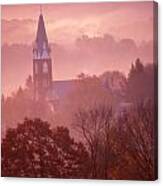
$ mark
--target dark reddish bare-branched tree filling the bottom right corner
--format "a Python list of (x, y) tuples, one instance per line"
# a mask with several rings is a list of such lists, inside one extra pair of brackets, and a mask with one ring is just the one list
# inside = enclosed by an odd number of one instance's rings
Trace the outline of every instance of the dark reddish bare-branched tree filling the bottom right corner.
[(154, 109), (151, 102), (134, 106), (120, 118), (119, 151), (123, 152), (125, 171), (120, 170), (119, 179), (154, 180), (157, 146)]

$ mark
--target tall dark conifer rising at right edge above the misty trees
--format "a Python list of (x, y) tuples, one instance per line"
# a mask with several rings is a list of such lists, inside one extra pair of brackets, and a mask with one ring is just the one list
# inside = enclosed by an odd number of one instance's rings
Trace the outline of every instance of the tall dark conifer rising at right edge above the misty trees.
[(154, 66), (155, 64), (143, 65), (140, 59), (132, 64), (126, 88), (126, 99), (131, 102), (154, 100)]

